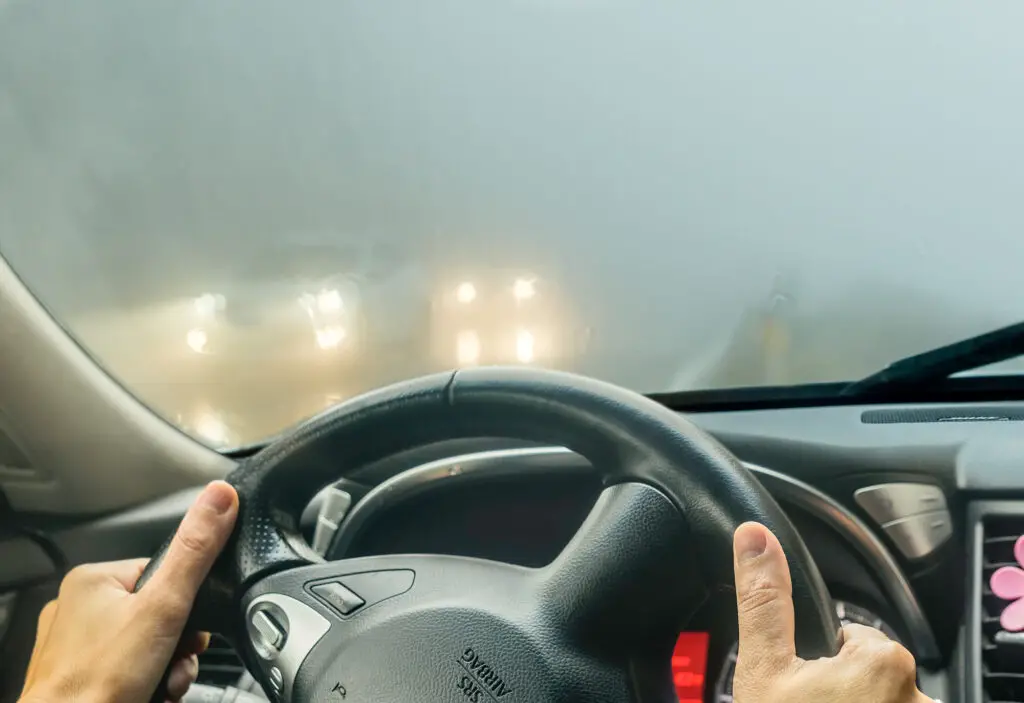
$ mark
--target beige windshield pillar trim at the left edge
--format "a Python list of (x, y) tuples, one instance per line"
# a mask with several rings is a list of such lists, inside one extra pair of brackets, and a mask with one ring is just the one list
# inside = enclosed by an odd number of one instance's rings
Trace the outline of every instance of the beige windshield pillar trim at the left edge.
[(68, 335), (0, 256), (0, 468), (17, 510), (98, 514), (224, 476), (233, 462), (169, 425)]

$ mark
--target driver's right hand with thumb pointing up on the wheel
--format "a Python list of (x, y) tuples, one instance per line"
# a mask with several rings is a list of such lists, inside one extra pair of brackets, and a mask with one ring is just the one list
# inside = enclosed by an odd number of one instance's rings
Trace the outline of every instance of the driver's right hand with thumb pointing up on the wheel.
[(918, 690), (913, 656), (870, 627), (846, 625), (835, 657), (800, 659), (782, 545), (766, 527), (745, 523), (736, 530), (733, 551), (739, 611), (735, 703), (933, 703)]

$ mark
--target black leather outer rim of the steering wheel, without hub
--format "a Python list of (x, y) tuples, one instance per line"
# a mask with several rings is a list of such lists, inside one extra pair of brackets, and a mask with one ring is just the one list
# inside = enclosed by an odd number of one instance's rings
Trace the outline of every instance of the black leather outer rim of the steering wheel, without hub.
[[(838, 650), (839, 622), (792, 523), (721, 445), (671, 410), (609, 384), (554, 371), (479, 368), (425, 377), (356, 398), (305, 423), (229, 477), (241, 510), (236, 533), (203, 599), (217, 608), (272, 571), (316, 560), (299, 531), (314, 493), (394, 453), (467, 437), (566, 446), (605, 484), (660, 490), (689, 523), (700, 566), (732, 583), (732, 533), (742, 522), (779, 538), (793, 574), (798, 653)], [(200, 604), (201, 608), (204, 604)]]

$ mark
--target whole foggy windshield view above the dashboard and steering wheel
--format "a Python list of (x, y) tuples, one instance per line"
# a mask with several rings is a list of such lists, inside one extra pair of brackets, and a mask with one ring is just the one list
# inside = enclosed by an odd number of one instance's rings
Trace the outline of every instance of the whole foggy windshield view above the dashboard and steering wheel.
[(1024, 5), (0, 2), (0, 252), (211, 444), (486, 363), (859, 378), (1024, 317)]

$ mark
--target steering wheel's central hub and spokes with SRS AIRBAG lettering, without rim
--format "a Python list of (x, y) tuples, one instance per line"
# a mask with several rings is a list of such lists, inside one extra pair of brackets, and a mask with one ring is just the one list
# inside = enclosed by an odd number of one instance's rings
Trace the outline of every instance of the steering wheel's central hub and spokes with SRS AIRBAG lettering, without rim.
[[(628, 666), (638, 645), (671, 647), (686, 604), (695, 601), (683, 590), (683, 570), (667, 568), (682, 563), (684, 536), (672, 503), (631, 483), (606, 491), (573, 543), (545, 569), (386, 556), (282, 571), (244, 597), (250, 623), (280, 609), (304, 626), (298, 640), (278, 638), (287, 643), (280, 653), (255, 647), (254, 663), (267, 676), (282, 672), (285, 699), (302, 691), (326, 700), (337, 690), (342, 700), (364, 691), (375, 700), (450, 700), (456, 693), (605, 700), (590, 693), (600, 683), (606, 700), (624, 700), (627, 679), (607, 671)], [(624, 552), (637, 543), (650, 545), (646, 559)], [(629, 566), (616, 574), (609, 559)], [(332, 586), (364, 605), (343, 612), (351, 599), (334, 599)]]

